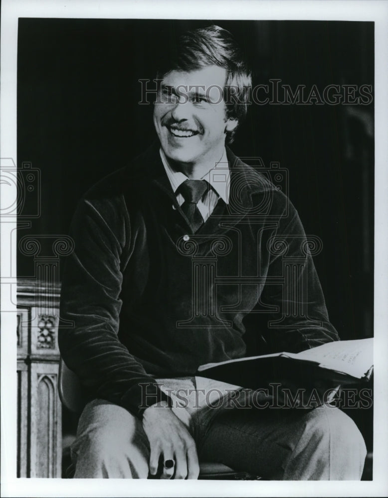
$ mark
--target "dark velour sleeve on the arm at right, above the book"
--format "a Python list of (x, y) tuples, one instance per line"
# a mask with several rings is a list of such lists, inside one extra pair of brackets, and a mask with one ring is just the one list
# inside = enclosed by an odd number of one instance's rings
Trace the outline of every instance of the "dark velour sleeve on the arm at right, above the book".
[(322, 249), (318, 237), (306, 237), (299, 215), (284, 194), (276, 193), (283, 211), (276, 234), (267, 241), (267, 282), (260, 297), (267, 340), (272, 351), (297, 353), (339, 340), (330, 323), (312, 253)]

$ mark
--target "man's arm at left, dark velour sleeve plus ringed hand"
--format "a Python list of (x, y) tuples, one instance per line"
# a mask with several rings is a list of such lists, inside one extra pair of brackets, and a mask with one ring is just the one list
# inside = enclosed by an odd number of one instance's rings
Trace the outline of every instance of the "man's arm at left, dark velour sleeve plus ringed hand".
[[(96, 205), (97, 204), (97, 205)], [(130, 222), (124, 200), (82, 200), (71, 236), (75, 250), (66, 261), (60, 328), (63, 360), (96, 398), (123, 406), (141, 417), (150, 442), (150, 473), (162, 478), (196, 479), (199, 465), (194, 439), (174, 413), (171, 398), (118, 339), (122, 266), (129, 257)]]

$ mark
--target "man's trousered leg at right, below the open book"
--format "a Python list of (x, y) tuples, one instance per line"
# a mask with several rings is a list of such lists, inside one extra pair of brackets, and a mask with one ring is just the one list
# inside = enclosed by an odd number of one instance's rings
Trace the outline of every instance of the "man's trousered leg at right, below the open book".
[(366, 449), (341, 410), (229, 407), (198, 441), (199, 458), (274, 480), (361, 478)]

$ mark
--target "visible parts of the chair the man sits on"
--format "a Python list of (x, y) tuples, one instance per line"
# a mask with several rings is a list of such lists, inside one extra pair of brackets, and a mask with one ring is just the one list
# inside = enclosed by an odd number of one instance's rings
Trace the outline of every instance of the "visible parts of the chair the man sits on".
[[(62, 404), (71, 412), (80, 414), (84, 407), (82, 389), (77, 375), (66, 367), (62, 359), (59, 363), (58, 392)], [(74, 466), (71, 464), (66, 469), (66, 477), (74, 476)], [(237, 472), (224, 464), (217, 462), (200, 462), (198, 479), (212, 480), (259, 480), (247, 472)]]

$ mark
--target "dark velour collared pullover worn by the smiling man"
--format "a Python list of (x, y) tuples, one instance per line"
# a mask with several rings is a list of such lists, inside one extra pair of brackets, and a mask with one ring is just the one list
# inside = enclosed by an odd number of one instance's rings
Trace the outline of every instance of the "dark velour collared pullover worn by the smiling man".
[(246, 351), (246, 320), (272, 351), (338, 340), (295, 208), (229, 149), (227, 157), (229, 204), (220, 199), (194, 235), (159, 145), (81, 199), (60, 302), (74, 326), (60, 329), (59, 347), (89, 396), (141, 416), (169, 400), (155, 377), (260, 354)]

